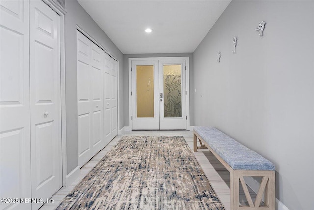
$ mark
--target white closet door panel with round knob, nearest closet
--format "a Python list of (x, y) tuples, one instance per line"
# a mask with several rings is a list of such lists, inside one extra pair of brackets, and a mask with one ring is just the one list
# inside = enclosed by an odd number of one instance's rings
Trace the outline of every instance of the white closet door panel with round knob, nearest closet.
[(32, 198), (46, 199), (62, 187), (60, 16), (41, 0), (29, 11)]

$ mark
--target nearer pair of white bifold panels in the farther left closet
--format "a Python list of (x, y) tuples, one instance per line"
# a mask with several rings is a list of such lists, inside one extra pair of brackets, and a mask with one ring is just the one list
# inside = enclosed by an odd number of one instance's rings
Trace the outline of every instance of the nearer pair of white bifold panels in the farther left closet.
[(78, 165), (104, 148), (103, 51), (77, 30)]

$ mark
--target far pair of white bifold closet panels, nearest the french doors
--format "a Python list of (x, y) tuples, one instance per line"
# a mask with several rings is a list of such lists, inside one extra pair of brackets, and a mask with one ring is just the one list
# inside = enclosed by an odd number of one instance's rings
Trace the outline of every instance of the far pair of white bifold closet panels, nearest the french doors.
[(104, 132), (105, 145), (118, 135), (117, 61), (104, 54)]

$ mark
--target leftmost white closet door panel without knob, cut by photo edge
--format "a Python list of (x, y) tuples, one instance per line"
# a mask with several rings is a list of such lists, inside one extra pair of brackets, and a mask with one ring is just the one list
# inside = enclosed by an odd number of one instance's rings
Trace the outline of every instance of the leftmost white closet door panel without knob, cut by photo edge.
[[(30, 198), (28, 1), (0, 1), (0, 195)], [(0, 209), (31, 204), (0, 203)]]

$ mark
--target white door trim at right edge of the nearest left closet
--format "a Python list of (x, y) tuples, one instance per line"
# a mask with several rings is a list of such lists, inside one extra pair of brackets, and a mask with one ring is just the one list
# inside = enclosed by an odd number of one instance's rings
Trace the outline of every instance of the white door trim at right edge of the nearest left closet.
[(52, 0), (43, 0), (60, 15), (60, 73), (61, 73), (61, 144), (62, 144), (62, 186), (66, 186), (67, 177), (67, 132), (65, 100), (65, 11)]

